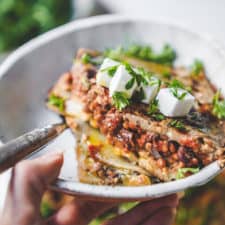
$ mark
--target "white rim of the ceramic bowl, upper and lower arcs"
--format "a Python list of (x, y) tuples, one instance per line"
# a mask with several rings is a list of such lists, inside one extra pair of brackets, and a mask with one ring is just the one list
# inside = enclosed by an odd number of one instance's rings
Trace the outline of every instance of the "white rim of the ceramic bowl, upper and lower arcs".
[[(179, 24), (166, 23), (164, 21), (155, 21), (143, 17), (131, 17), (123, 15), (102, 15), (94, 16), (90, 18), (80, 19), (68, 24), (62, 25), (55, 28), (45, 34), (42, 34), (29, 42), (25, 43), (13, 53), (11, 53), (0, 65), (0, 79), (7, 73), (7, 71), (26, 54), (32, 52), (36, 48), (56, 39), (64, 36), (70, 32), (75, 32), (81, 29), (87, 29), (96, 25), (104, 25), (110, 23), (123, 23), (123, 22), (149, 22), (159, 25), (169, 26), (174, 29), (178, 29), (183, 32), (195, 35), (200, 39), (205, 40), (210, 46), (214, 47), (215, 50), (222, 55), (225, 59), (225, 49), (222, 45), (215, 41), (210, 35), (200, 34), (197, 32), (190, 31)], [(159, 183), (149, 186), (140, 187), (122, 187), (122, 186), (104, 186), (104, 185), (90, 185), (80, 182), (73, 182), (64, 179), (58, 179), (55, 184), (51, 185), (51, 188), (57, 191), (65, 192), (68, 194), (79, 195), (79, 196), (92, 196), (100, 198), (111, 198), (111, 199), (129, 199), (129, 200), (140, 200), (154, 197), (160, 197), (182, 191), (186, 188), (199, 186), (207, 183), (210, 179), (221, 172), (218, 162), (213, 162), (210, 165), (203, 168), (197, 174), (189, 176), (187, 178)], [(162, 189), (164, 191), (162, 191)]]

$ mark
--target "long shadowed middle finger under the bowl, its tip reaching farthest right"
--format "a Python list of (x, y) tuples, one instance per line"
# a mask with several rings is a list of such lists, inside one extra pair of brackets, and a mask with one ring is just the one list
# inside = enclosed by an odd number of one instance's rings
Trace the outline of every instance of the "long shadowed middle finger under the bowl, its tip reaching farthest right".
[(126, 225), (127, 221), (129, 221), (129, 225), (140, 224), (145, 218), (151, 216), (158, 209), (165, 207), (174, 208), (177, 205), (178, 198), (176, 194), (169, 195), (163, 198), (153, 199), (147, 202), (143, 202), (127, 213), (105, 222), (104, 225)]

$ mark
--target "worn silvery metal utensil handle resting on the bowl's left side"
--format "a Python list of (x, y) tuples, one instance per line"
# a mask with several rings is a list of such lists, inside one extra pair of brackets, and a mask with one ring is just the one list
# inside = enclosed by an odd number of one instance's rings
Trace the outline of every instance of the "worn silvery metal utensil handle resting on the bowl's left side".
[(0, 173), (40, 149), (66, 129), (64, 123), (32, 130), (0, 147)]

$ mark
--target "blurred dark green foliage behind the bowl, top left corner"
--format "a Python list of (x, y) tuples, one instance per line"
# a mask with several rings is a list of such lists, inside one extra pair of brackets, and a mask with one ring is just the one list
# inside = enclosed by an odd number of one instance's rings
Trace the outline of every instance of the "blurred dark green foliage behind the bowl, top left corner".
[(0, 0), (0, 52), (69, 21), (71, 0)]

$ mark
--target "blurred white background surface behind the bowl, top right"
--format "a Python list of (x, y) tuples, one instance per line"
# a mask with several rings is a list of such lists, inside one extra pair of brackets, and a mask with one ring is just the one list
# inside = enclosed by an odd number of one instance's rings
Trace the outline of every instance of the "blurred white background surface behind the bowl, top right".
[(112, 13), (181, 24), (225, 44), (224, 0), (96, 0)]

